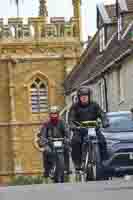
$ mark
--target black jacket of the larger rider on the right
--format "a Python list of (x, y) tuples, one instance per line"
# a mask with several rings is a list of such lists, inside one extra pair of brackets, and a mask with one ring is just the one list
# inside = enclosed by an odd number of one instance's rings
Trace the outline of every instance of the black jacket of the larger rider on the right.
[(73, 126), (73, 121), (95, 121), (98, 118), (101, 119), (103, 126), (108, 124), (108, 120), (105, 112), (95, 102), (90, 102), (86, 106), (82, 106), (80, 103), (75, 103), (71, 106), (69, 112), (69, 124)]

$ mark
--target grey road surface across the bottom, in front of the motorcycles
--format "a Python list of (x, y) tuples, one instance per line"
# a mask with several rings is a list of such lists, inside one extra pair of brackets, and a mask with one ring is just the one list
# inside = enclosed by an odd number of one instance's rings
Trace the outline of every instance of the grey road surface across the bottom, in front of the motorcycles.
[(0, 188), (0, 200), (132, 200), (133, 181), (42, 184)]

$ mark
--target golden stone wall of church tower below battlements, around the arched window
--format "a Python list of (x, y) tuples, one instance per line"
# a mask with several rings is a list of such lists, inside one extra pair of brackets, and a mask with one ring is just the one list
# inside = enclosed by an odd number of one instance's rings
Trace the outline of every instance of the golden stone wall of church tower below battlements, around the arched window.
[(32, 112), (30, 86), (35, 78), (46, 81), (48, 106), (63, 108), (63, 82), (80, 57), (81, 44), (74, 37), (1, 41), (0, 181), (6, 182), (17, 173), (42, 173), (42, 157), (33, 141), (48, 111)]

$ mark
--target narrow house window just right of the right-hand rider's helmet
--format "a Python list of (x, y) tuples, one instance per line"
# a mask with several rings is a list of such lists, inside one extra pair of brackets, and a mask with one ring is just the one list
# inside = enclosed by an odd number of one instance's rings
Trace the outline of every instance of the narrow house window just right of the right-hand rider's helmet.
[(106, 111), (106, 95), (105, 95), (105, 85), (104, 81), (100, 81), (98, 83), (98, 91), (99, 91), (99, 104), (101, 108)]

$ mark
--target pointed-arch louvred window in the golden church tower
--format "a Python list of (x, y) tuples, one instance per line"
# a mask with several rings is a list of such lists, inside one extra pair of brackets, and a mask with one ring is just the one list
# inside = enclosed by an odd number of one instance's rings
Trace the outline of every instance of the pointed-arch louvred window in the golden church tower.
[(36, 78), (30, 86), (32, 113), (48, 111), (48, 85)]

